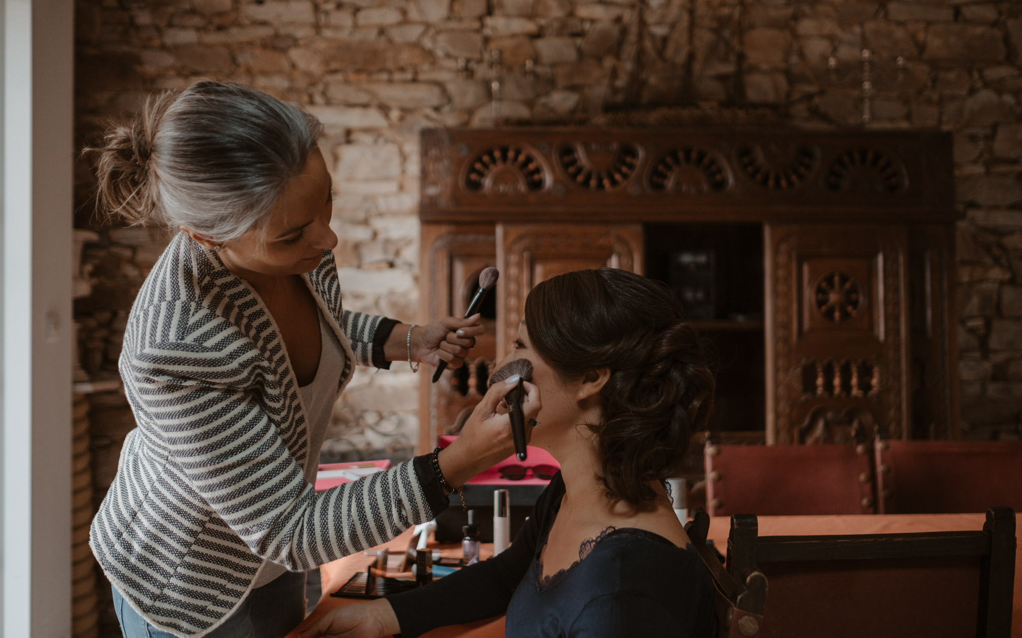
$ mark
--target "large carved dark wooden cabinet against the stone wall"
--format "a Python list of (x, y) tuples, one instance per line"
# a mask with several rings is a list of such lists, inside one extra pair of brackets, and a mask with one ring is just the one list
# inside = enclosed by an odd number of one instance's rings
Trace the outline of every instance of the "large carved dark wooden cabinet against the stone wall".
[(771, 443), (958, 434), (949, 136), (782, 130), (427, 130), (420, 321), (501, 271), (486, 337), (423, 377), (420, 448), (478, 402), (524, 300), (609, 265), (672, 281), (711, 251), (713, 428)]

